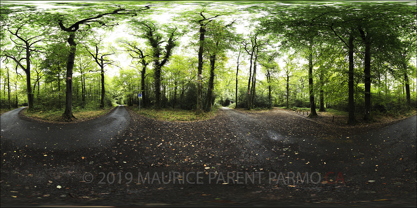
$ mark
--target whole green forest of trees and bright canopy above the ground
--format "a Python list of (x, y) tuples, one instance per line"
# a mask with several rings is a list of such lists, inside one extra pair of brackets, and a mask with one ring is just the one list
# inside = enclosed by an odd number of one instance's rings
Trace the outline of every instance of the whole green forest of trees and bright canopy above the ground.
[(415, 1), (1, 2), (1, 109), (416, 109)]

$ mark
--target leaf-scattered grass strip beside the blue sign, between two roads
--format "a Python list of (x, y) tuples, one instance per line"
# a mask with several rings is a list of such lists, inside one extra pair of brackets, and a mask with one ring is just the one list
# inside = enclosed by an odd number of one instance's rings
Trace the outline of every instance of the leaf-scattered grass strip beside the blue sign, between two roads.
[(129, 106), (129, 109), (136, 113), (146, 116), (148, 118), (162, 120), (162, 121), (201, 121), (210, 119), (215, 116), (214, 111), (202, 113), (196, 115), (195, 111), (186, 111), (181, 109), (161, 109), (159, 111), (151, 108), (141, 108), (139, 111), (138, 106)]

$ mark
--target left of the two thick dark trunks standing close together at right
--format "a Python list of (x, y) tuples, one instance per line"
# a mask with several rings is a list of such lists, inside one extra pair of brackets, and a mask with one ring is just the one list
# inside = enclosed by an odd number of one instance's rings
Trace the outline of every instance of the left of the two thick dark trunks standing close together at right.
[(354, 65), (353, 65), (353, 40), (354, 37), (352, 34), (349, 36), (349, 98), (348, 98), (348, 109), (349, 109), (349, 118), (347, 120), (348, 124), (355, 124), (357, 122), (355, 117), (355, 103), (354, 103)]

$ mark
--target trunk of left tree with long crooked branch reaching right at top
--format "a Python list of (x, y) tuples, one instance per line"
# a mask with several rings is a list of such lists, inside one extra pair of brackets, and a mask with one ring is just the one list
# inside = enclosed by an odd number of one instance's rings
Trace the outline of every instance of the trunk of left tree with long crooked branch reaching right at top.
[(77, 44), (74, 41), (75, 33), (71, 33), (68, 38), (68, 43), (70, 44), (70, 52), (68, 54), (68, 61), (67, 61), (67, 76), (66, 76), (66, 94), (65, 94), (65, 111), (63, 113), (63, 117), (67, 120), (76, 119), (73, 115), (73, 68), (74, 68), (74, 59), (75, 59), (75, 51)]

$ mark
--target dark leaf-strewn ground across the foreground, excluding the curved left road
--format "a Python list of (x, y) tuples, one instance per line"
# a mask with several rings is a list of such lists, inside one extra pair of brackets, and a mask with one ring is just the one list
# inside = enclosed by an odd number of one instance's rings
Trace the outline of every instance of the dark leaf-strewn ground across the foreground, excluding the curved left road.
[(2, 136), (1, 206), (416, 206), (416, 116), (349, 126), (277, 108), (196, 122), (128, 111), (95, 148)]

